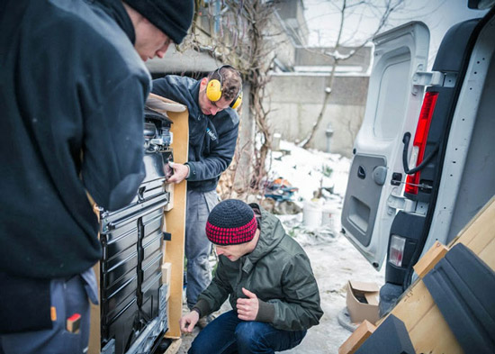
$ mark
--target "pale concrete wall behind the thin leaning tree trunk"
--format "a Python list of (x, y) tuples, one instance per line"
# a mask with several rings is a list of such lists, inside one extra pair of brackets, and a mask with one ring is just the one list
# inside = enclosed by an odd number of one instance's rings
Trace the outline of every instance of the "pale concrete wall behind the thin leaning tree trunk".
[[(287, 141), (307, 138), (321, 110), (329, 75), (274, 74), (267, 86), (273, 132)], [(354, 139), (363, 122), (369, 77), (335, 77), (329, 104), (312, 149), (352, 156)], [(327, 130), (333, 134), (330, 141)]]

